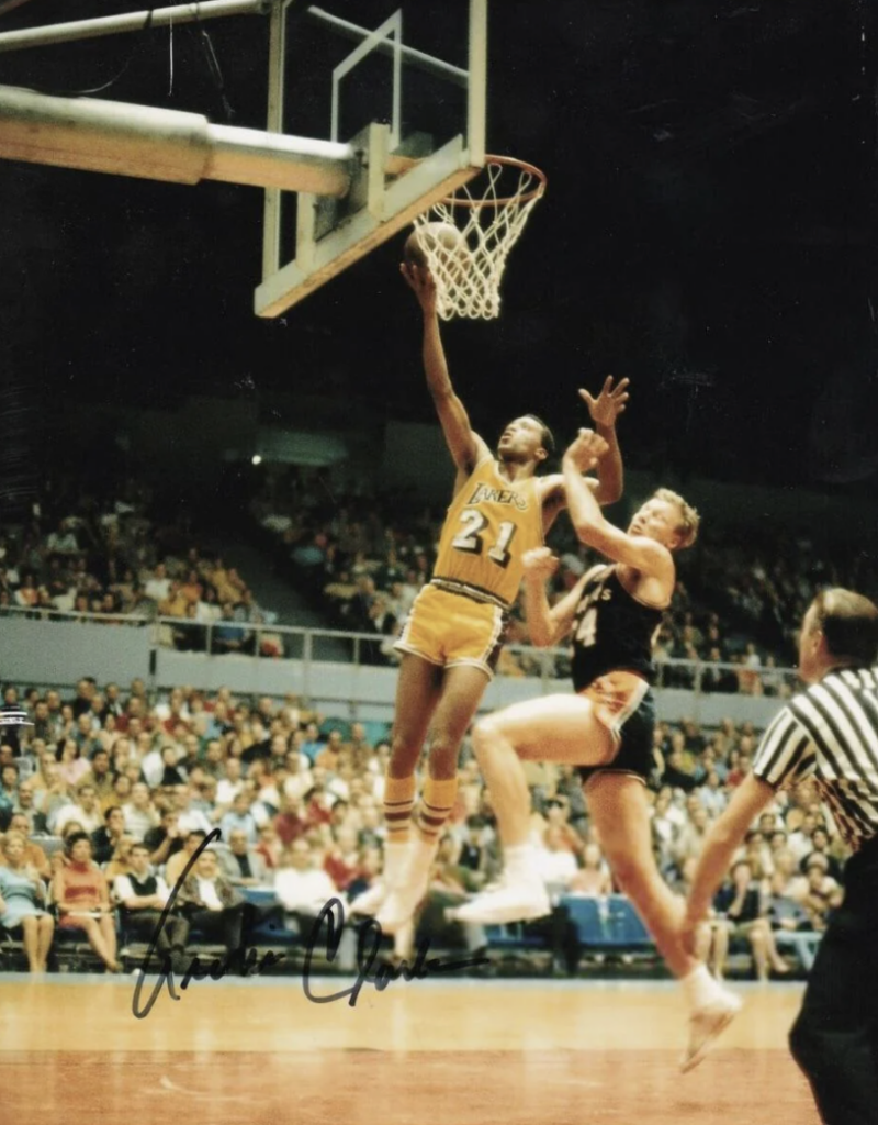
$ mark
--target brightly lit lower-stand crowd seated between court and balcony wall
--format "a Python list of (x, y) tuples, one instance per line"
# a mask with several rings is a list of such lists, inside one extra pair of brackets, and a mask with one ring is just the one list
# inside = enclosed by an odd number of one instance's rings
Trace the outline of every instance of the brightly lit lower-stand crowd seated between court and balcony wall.
[[(328, 897), (353, 898), (380, 876), (389, 758), (381, 724), (327, 720), (292, 696), (179, 687), (151, 699), (141, 681), (123, 691), (89, 677), (69, 696), (7, 686), (3, 705), (26, 711), (30, 726), (0, 727), (0, 926), (21, 934), (34, 971), (45, 968), (55, 925), (80, 932), (116, 971), (117, 912), (132, 922), (144, 911), (139, 920), (154, 922), (215, 829), (220, 844), (181, 889), (187, 926), (166, 936), (173, 956), (190, 928), (235, 948), (246, 889), (271, 891), (259, 909), (300, 933)], [(715, 730), (658, 726), (652, 838), (673, 888), (685, 891), (710, 822), (752, 766), (758, 735), (731, 720)], [(577, 772), (527, 768), (533, 838), (555, 901), (612, 893)], [(459, 780), (431, 885), (442, 903), (491, 882), (501, 867), (490, 794), (468, 745)], [(812, 789), (778, 794), (748, 835), (702, 935), (715, 971), (725, 971), (737, 947), (760, 976), (787, 972), (785, 954), (807, 970), (840, 900), (844, 861)], [(564, 970), (576, 971), (581, 951), (569, 927), (553, 926), (547, 938)], [(485, 935), (456, 939), (478, 947)]]

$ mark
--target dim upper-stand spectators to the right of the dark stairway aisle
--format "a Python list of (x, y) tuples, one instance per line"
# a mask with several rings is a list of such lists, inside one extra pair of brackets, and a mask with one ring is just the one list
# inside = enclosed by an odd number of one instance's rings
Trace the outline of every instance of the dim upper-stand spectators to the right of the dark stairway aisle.
[[(281, 567), (335, 626), (377, 634), (364, 658), (392, 663), (393, 634), (429, 580), (444, 511), (425, 508), (413, 496), (372, 495), (359, 482), (329, 490), (316, 471), (280, 469), (268, 475), (251, 512)], [(552, 588), (558, 598), (599, 559), (576, 541), (567, 520), (556, 521), (550, 543), (561, 564)], [(779, 543), (775, 537), (773, 546), (762, 548), (751, 532), (708, 530), (704, 542), (678, 559), (677, 590), (655, 648), (660, 684), (788, 696), (795, 680), (785, 669), (795, 665), (804, 609), (822, 585), (878, 578), (867, 564), (865, 555), (823, 561), (805, 539)], [(563, 655), (546, 665), (521, 650), (527, 644), (517, 606), (501, 673), (536, 675), (549, 667), (567, 674)]]

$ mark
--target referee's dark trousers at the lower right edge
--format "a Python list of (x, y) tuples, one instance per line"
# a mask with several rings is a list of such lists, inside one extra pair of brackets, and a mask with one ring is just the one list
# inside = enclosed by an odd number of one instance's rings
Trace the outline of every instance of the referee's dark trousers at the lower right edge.
[(796, 1023), (793, 1056), (824, 1125), (878, 1120), (878, 840), (849, 860)]

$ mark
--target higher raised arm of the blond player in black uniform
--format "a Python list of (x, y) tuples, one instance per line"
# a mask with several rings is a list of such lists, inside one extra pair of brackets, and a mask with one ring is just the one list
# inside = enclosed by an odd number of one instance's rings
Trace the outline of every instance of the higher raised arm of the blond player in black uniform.
[(601, 439), (594, 431), (580, 430), (561, 462), (573, 530), (580, 542), (600, 551), (606, 558), (625, 562), (645, 575), (670, 578), (672, 586), (673, 560), (667, 547), (654, 539), (630, 536), (604, 519), (594, 493), (582, 477), (594, 460), (596, 441)]

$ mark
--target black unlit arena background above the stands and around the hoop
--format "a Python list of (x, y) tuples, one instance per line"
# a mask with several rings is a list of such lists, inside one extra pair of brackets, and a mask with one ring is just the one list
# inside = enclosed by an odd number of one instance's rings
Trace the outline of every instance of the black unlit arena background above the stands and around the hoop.
[[(0, 30), (135, 7), (29, 0)], [(416, 8), (441, 36), (447, 4)], [(632, 464), (874, 484), (876, 30), (867, 0), (494, 0), (489, 146), (550, 188), (500, 320), (444, 330), (486, 435), (526, 410), (563, 434), (576, 387), (613, 371)], [(0, 82), (261, 127), (265, 44), (262, 18), (215, 20), (176, 29), (173, 83), (157, 29), (1, 54)], [(261, 217), (254, 189), (0, 165), (9, 408), (331, 388), (429, 418), (399, 242), (260, 321)]]

